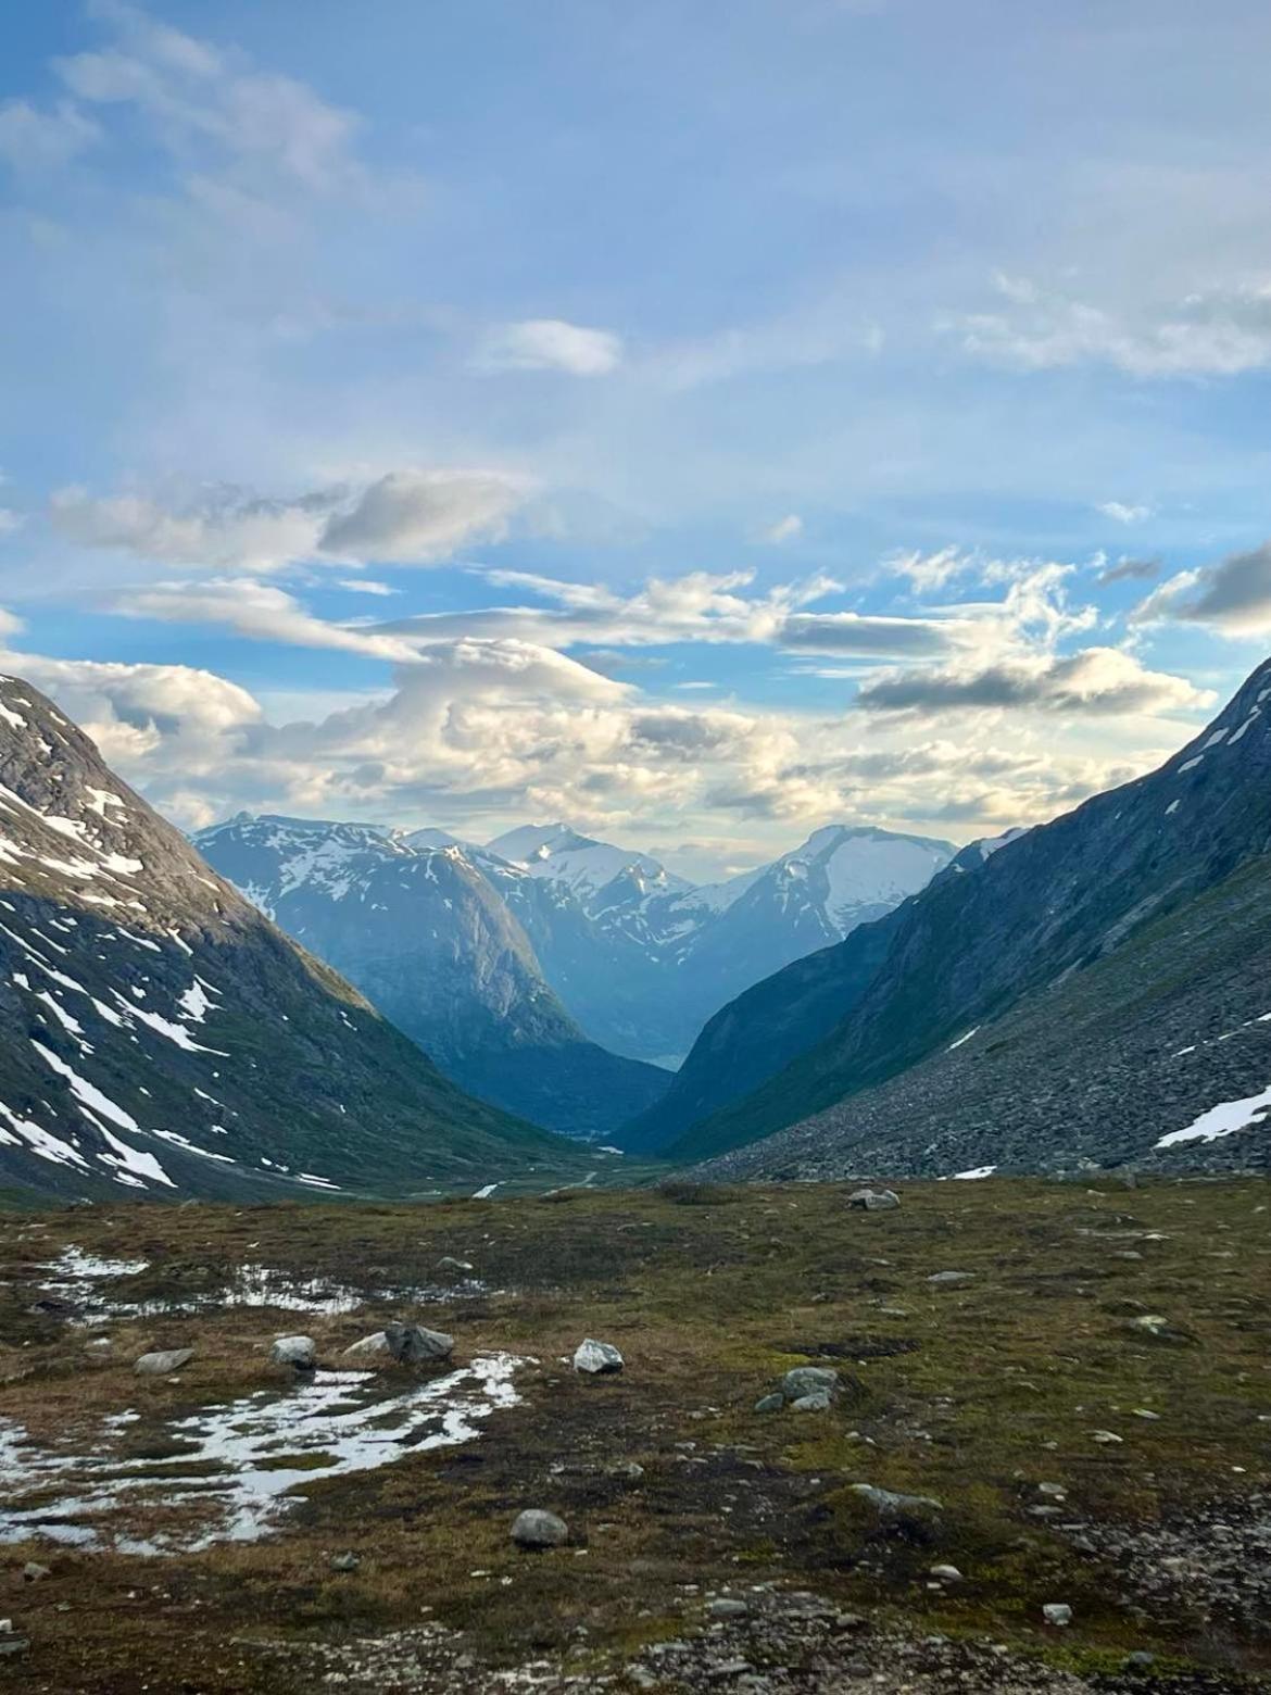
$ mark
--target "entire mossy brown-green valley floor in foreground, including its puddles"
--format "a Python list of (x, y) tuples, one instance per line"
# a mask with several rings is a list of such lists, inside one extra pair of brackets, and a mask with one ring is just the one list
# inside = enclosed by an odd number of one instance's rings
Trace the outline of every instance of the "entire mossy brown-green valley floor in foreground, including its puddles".
[(1271, 1687), (1271, 1186), (847, 1195), (5, 1215), (0, 1690)]

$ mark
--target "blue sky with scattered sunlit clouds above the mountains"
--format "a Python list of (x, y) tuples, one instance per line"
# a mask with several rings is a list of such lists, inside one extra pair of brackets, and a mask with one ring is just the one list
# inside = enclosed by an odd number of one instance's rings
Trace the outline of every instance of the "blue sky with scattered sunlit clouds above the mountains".
[(0, 666), (161, 810), (713, 878), (1271, 636), (1263, 0), (0, 8)]

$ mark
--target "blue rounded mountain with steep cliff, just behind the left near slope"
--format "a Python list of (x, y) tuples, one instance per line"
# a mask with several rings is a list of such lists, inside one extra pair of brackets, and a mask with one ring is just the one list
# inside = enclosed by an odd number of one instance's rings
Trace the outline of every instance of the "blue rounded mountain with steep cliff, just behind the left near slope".
[(480, 849), (439, 831), (247, 814), (195, 842), (481, 1100), (586, 1137), (666, 1088), (664, 1071), (607, 1053), (569, 1017), (500, 888), (503, 868)]

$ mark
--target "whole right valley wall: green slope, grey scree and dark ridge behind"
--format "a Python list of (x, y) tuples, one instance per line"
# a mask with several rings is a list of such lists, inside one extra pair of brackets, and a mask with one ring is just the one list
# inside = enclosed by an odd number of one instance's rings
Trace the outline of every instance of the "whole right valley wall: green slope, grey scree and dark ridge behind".
[(751, 988), (632, 1139), (746, 1176), (1266, 1164), (1269, 702), (1271, 663), (1157, 771)]

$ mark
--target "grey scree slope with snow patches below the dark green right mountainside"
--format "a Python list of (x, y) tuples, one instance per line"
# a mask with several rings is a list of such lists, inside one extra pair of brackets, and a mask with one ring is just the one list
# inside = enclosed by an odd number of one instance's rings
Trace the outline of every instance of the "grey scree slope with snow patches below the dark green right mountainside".
[(1269, 1170), (1269, 1083), (1271, 859), (1259, 858), (891, 1081), (710, 1170)]

